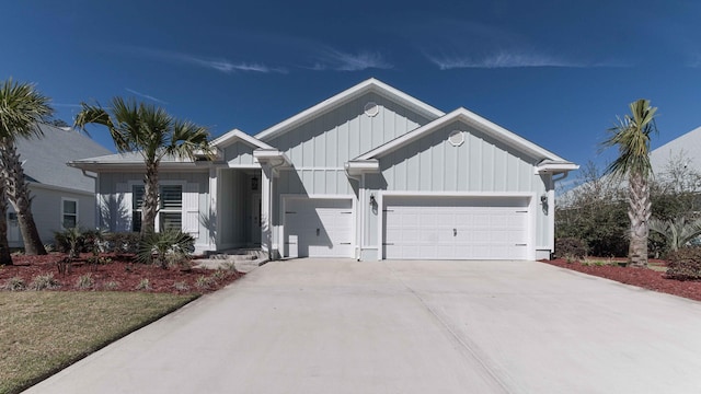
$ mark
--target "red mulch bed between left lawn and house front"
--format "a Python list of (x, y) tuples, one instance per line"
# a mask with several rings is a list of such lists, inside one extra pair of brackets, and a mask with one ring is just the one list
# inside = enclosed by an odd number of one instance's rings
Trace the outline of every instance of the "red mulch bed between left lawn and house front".
[[(215, 275), (215, 270), (206, 268), (180, 268), (163, 269), (157, 265), (145, 265), (135, 262), (134, 256), (103, 254), (101, 257), (111, 259), (111, 263), (93, 265), (88, 258), (90, 254), (81, 255), (71, 264), (70, 273), (59, 274), (57, 263), (62, 260), (65, 254), (50, 253), (43, 256), (12, 256), (13, 265), (0, 266), (0, 290), (5, 289), (10, 278), (22, 278), (26, 287), (36, 276), (53, 274), (60, 287), (55, 290), (64, 291), (147, 291), (169, 293), (207, 293), (216, 291), (244, 274), (232, 270), (221, 270)], [(196, 263), (196, 262), (195, 262)], [(83, 275), (90, 274), (94, 282), (87, 289), (78, 289), (76, 283)], [(207, 286), (202, 286), (203, 277)], [(138, 289), (142, 279), (148, 279), (149, 289)], [(199, 287), (197, 286), (199, 279)], [(177, 283), (177, 286), (176, 286)]]

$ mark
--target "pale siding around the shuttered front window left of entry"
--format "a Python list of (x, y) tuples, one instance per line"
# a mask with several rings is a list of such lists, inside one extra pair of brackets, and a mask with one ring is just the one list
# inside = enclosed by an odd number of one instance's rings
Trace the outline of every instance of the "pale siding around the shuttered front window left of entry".
[[(97, 205), (99, 227), (111, 231), (128, 231), (131, 223), (131, 190), (129, 185), (143, 182), (140, 172), (101, 173)], [(208, 172), (159, 172), (159, 182), (183, 183), (183, 230), (196, 237), (196, 245), (209, 244), (209, 229), (202, 212), (209, 212)]]

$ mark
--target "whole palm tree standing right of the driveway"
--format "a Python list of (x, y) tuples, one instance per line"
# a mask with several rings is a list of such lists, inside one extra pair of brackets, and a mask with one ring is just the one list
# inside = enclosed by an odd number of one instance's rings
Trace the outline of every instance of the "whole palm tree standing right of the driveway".
[(618, 118), (616, 125), (609, 129), (610, 137), (601, 144), (604, 148), (618, 147), (619, 150), (618, 159), (606, 169), (605, 174), (628, 179), (628, 217), (631, 220), (628, 264), (633, 267), (646, 267), (650, 235), (647, 221), (652, 207), (648, 181), (653, 175), (650, 139), (653, 132), (657, 132), (657, 108), (651, 107), (648, 100), (641, 99), (631, 103), (630, 109), (630, 115)]

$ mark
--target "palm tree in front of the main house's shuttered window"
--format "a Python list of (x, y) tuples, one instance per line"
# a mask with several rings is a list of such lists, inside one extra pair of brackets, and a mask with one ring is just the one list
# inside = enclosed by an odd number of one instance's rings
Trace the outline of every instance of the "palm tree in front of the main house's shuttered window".
[(108, 109), (81, 103), (76, 127), (88, 124), (107, 127), (119, 153), (138, 151), (143, 157), (143, 202), (141, 237), (156, 229), (158, 215), (159, 165), (164, 157), (195, 160), (196, 154), (211, 154), (207, 128), (175, 119), (164, 109), (114, 97)]

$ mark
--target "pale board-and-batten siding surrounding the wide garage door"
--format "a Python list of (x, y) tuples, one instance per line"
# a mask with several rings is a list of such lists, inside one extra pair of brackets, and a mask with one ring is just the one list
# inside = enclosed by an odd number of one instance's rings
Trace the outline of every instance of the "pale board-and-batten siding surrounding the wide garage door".
[[(464, 141), (453, 146), (449, 136), (455, 130)], [(382, 190), (445, 194), (532, 193), (536, 205), (536, 244), (550, 244), (547, 210), (539, 196), (552, 187), (550, 175), (535, 174), (538, 160), (461, 121), (441, 127), (380, 158), (380, 173), (367, 174), (365, 200)], [(377, 247), (378, 215), (366, 210), (363, 245)]]

